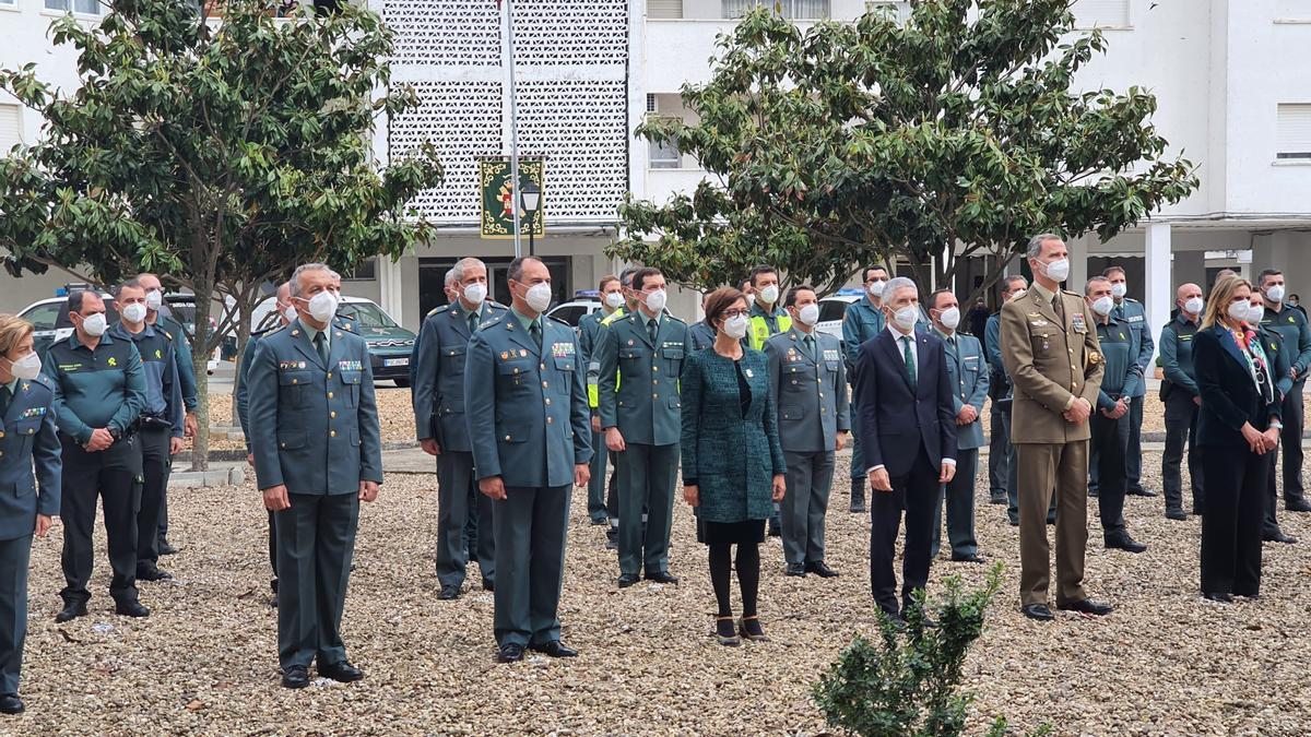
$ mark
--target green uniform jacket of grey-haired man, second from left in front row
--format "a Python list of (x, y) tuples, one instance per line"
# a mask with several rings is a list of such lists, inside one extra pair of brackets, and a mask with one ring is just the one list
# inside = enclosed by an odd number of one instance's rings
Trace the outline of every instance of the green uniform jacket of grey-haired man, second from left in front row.
[(349, 330), (328, 329), (326, 362), (299, 319), (257, 344), (246, 413), (260, 489), (350, 494), (361, 481), (383, 481), (368, 346)]

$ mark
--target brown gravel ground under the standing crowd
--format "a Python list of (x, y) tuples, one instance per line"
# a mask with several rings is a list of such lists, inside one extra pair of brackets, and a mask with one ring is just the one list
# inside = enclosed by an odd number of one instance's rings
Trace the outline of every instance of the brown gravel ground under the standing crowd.
[[(1159, 454), (1145, 459), (1159, 488)], [(838, 477), (847, 456), (839, 458)], [(431, 570), (437, 494), (430, 475), (388, 477), (361, 515), (358, 569), (343, 633), (362, 683), (278, 686), (269, 606), (265, 515), (253, 485), (180, 492), (164, 559), (177, 581), (143, 584), (144, 620), (111, 614), (104, 535), (90, 616), (56, 626), (60, 528), (35, 544), (31, 626), (22, 695), (28, 713), (0, 720), (13, 734), (418, 734), (418, 733), (821, 733), (810, 685), (855, 632), (873, 632), (868, 523), (834, 494), (829, 563), (842, 577), (783, 576), (766, 548), (762, 619), (771, 644), (713, 643), (705, 551), (678, 504), (671, 570), (679, 586), (619, 591), (602, 528), (576, 492), (561, 618), (572, 661), (494, 664), (492, 598), (439, 602)], [(979, 487), (983, 488), (982, 485)], [(986, 492), (985, 492), (986, 494)], [(1198, 521), (1169, 522), (1162, 500), (1131, 497), (1139, 556), (1101, 548), (1096, 515), (1087, 588), (1117, 606), (1051, 624), (1017, 611), (1016, 534), (1004, 508), (982, 504), (981, 549), (1007, 565), (1002, 595), (966, 665), (978, 695), (970, 733), (998, 715), (1058, 734), (1304, 734), (1311, 686), (1311, 515), (1282, 514), (1306, 540), (1265, 547), (1257, 602), (1230, 607), (1197, 593)], [(1095, 511), (1095, 506), (1093, 506)], [(944, 574), (983, 580), (983, 567), (936, 561)], [(471, 570), (471, 580), (477, 580)], [(735, 594), (734, 594), (735, 597)]]

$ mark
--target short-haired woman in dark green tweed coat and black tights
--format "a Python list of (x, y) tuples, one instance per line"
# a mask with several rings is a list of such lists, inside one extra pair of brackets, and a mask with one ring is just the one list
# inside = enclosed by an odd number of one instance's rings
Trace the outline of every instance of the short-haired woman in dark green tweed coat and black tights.
[[(743, 348), (749, 307), (730, 287), (705, 299), (714, 345), (683, 363), (683, 498), (696, 511), (696, 538), (709, 546), (711, 584), (718, 601), (714, 635), (737, 645), (738, 635), (766, 640), (756, 615), (760, 543), (773, 502), (783, 500), (783, 448), (764, 354)], [(737, 546), (742, 619), (734, 628), (729, 597)]]

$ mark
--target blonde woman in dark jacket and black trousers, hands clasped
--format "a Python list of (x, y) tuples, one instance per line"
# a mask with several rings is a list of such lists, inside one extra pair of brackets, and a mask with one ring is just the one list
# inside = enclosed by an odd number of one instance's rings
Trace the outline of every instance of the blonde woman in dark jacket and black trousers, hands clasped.
[(1287, 375), (1278, 340), (1248, 320), (1251, 294), (1244, 279), (1221, 279), (1193, 338), (1206, 479), (1202, 595), (1223, 603), (1255, 598), (1261, 586), (1261, 521), (1282, 428), (1277, 384)]

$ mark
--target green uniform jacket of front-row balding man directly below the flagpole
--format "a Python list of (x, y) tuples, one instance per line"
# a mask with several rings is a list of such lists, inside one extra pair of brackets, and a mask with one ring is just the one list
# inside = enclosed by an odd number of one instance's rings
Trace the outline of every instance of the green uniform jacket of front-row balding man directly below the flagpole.
[(566, 323), (540, 316), (536, 345), (514, 309), (492, 317), (469, 340), (464, 410), (479, 479), (506, 487), (573, 483), (591, 460), (591, 416), (578, 337)]

